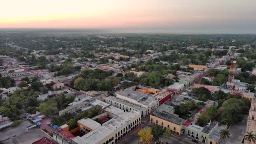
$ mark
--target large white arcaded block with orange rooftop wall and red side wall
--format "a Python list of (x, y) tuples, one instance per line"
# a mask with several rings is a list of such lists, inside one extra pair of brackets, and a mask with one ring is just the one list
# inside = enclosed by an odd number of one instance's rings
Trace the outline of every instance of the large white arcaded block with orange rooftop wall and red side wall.
[(126, 111), (138, 110), (141, 112), (141, 116), (145, 117), (171, 97), (172, 93), (166, 89), (159, 90), (136, 85), (123, 91), (117, 91), (116, 98), (108, 96), (104, 99), (112, 106)]

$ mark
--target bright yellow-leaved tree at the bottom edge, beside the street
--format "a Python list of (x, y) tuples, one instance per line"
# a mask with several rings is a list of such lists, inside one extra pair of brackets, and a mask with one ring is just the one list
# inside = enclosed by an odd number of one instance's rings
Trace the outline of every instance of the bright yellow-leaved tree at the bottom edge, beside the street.
[(154, 138), (152, 135), (151, 128), (142, 128), (139, 130), (138, 135), (140, 137), (139, 141), (143, 142), (144, 144), (151, 144), (151, 140)]

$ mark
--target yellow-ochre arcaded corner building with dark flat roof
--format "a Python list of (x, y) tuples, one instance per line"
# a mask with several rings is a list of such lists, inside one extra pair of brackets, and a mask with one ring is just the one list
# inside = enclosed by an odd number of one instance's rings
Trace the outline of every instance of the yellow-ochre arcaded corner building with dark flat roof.
[(169, 128), (176, 135), (181, 134), (182, 123), (184, 119), (173, 113), (174, 108), (166, 104), (162, 104), (152, 114), (150, 114), (150, 123), (159, 125), (163, 129)]

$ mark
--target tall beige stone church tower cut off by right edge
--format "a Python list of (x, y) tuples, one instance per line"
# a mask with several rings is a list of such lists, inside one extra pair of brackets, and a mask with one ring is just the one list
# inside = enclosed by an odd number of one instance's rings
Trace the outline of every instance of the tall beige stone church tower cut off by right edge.
[[(246, 132), (250, 133), (251, 131), (252, 131), (252, 134), (254, 135), (256, 134), (256, 99), (253, 99), (251, 103), (251, 108), (250, 108), (250, 112), (247, 120)], [(245, 141), (244, 144), (256, 144), (256, 141), (254, 143)]]

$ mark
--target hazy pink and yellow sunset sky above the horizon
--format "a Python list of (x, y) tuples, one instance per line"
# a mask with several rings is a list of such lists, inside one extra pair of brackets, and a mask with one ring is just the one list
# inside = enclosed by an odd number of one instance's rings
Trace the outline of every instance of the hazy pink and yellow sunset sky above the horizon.
[(1, 0), (0, 28), (256, 33), (256, 0)]

